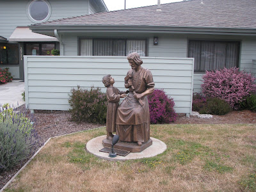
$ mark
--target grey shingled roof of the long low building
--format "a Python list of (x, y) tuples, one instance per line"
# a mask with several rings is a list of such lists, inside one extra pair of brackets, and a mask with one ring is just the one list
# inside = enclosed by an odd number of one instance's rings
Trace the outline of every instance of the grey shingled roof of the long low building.
[[(203, 2), (203, 3), (202, 3)], [(34, 26), (172, 26), (256, 29), (255, 0), (190, 0), (83, 15)]]

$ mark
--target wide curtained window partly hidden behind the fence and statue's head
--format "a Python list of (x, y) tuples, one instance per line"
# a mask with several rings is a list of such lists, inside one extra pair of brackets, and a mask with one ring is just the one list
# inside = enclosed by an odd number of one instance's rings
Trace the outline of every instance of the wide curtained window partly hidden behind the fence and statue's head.
[(81, 38), (79, 40), (79, 55), (127, 56), (129, 53), (136, 51), (140, 56), (146, 56), (146, 45), (146, 39)]

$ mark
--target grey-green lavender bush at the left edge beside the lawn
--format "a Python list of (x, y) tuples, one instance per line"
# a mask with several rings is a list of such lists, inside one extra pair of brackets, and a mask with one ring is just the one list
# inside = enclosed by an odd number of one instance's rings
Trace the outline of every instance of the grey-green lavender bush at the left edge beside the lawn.
[(28, 159), (40, 145), (30, 119), (12, 108), (0, 110), (0, 172)]

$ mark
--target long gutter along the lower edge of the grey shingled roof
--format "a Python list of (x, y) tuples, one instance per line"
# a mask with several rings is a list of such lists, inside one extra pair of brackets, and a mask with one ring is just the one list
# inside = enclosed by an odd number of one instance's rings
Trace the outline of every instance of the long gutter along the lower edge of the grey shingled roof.
[[(246, 28), (193, 28), (170, 26), (30, 26), (35, 33), (49, 35), (58, 29), (61, 33), (177, 33), (208, 35), (248, 35), (256, 36), (256, 29)], [(56, 32), (57, 33), (57, 32)], [(58, 33), (57, 33), (58, 34)], [(59, 40), (59, 38), (58, 38)]]

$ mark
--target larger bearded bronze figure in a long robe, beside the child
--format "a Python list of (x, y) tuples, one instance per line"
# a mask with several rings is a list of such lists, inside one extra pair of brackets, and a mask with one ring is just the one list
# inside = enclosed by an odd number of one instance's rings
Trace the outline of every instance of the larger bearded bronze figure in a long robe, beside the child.
[(129, 95), (117, 109), (116, 134), (120, 141), (137, 142), (141, 146), (150, 139), (147, 95), (154, 92), (155, 84), (150, 70), (141, 67), (143, 61), (137, 52), (129, 54), (127, 60), (131, 66), (125, 77)]

